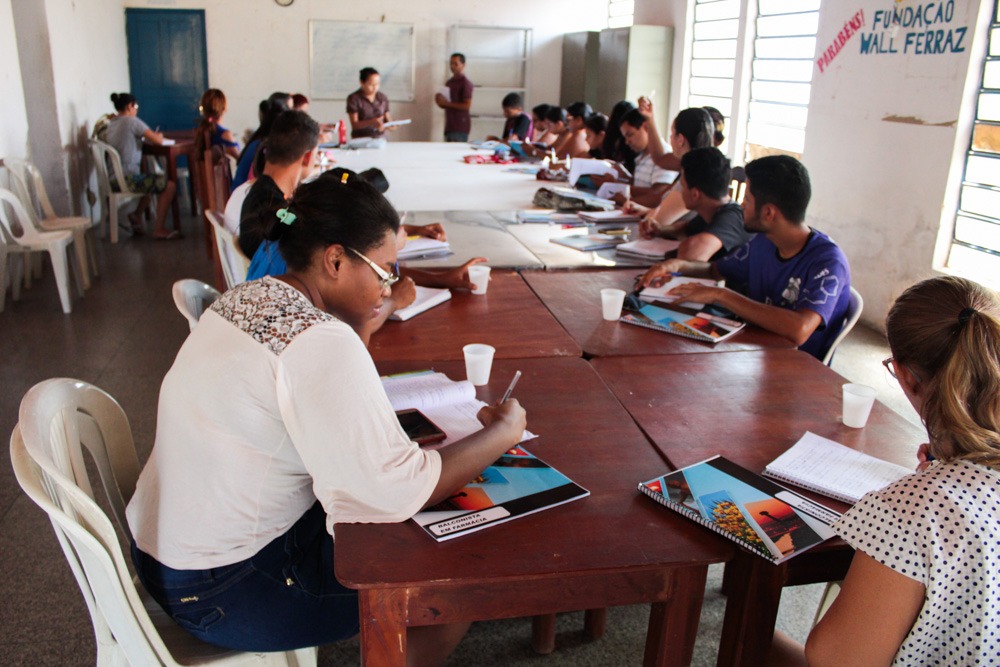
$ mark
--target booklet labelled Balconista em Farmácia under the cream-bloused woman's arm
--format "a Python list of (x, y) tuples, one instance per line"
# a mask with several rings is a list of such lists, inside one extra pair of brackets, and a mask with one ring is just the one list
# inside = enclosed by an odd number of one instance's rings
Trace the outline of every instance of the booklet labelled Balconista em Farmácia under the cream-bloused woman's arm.
[(413, 517), (438, 542), (589, 496), (530, 452), (514, 447), (447, 500)]

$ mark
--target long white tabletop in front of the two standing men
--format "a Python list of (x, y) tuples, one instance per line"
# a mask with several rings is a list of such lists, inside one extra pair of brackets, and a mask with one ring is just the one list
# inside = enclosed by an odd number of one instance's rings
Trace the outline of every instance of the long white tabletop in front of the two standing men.
[(466, 164), (466, 155), (490, 155), (469, 144), (400, 141), (384, 148), (329, 151), (334, 166), (381, 169), (386, 197), (400, 211), (510, 211), (531, 208), (542, 183), (517, 165)]

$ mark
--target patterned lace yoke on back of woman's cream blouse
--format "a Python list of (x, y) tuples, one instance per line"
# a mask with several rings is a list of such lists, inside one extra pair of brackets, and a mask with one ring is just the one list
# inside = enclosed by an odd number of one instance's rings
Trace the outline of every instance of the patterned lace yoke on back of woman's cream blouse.
[(271, 277), (237, 285), (213, 303), (212, 310), (276, 355), (312, 325), (336, 319), (302, 292)]

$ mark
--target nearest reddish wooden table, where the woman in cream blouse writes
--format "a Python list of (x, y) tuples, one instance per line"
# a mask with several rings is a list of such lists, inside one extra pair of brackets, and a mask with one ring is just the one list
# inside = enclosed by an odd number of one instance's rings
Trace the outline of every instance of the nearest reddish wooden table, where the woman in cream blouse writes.
[[(464, 376), (462, 362), (378, 366)], [(585, 361), (498, 360), (479, 397), (498, 399), (515, 369), (539, 434), (527, 448), (590, 497), (441, 543), (413, 522), (337, 524), (337, 578), (360, 594), (362, 662), (405, 664), (408, 626), (649, 602), (645, 664), (690, 663), (708, 565), (734, 547), (636, 491), (665, 464)]]

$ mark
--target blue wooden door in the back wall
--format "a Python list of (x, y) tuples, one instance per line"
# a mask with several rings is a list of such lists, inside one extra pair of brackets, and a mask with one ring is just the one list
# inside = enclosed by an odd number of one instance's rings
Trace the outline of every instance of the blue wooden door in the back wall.
[(208, 88), (203, 10), (126, 9), (130, 91), (152, 128), (190, 130)]

